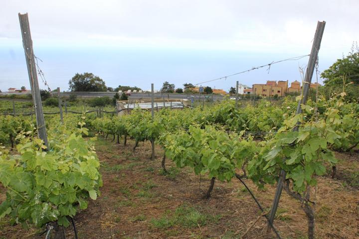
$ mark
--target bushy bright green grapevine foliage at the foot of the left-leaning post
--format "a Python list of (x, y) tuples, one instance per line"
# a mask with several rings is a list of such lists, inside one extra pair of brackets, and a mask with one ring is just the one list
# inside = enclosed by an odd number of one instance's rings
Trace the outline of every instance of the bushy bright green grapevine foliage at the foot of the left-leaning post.
[[(82, 125), (83, 123), (81, 123)], [(102, 186), (100, 166), (93, 146), (81, 134), (85, 128), (49, 137), (49, 149), (35, 136), (21, 133), (18, 154), (0, 153), (0, 182), (7, 189), (0, 204), (0, 218), (8, 215), (12, 224), (37, 227), (57, 221), (69, 226), (67, 216), (87, 208)], [(60, 135), (60, 136), (58, 136)]]

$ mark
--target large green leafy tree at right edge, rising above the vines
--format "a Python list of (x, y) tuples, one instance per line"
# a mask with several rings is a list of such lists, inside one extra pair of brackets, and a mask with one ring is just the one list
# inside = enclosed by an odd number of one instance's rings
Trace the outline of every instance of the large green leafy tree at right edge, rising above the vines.
[(352, 45), (349, 54), (343, 59), (338, 59), (329, 69), (322, 72), (321, 77), (324, 78), (325, 86), (342, 86), (343, 79), (346, 83), (353, 82), (359, 85), (359, 47)]

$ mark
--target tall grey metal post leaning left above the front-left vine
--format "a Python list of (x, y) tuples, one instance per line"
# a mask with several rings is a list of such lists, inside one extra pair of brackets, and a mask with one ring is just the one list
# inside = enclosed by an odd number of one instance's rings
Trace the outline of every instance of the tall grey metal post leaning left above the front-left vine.
[(40, 139), (44, 141), (46, 147), (48, 147), (45, 119), (42, 112), (40, 89), (39, 89), (37, 74), (36, 74), (35, 56), (32, 48), (28, 15), (27, 13), (25, 14), (18, 13), (18, 16), (20, 21), (22, 44), (25, 52), (27, 72), (31, 86), (32, 100), (35, 107), (38, 135)]

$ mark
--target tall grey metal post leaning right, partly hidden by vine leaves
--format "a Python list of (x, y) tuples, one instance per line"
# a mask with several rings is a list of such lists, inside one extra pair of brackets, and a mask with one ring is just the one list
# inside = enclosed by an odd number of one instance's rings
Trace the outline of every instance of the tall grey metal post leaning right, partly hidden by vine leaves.
[[(305, 74), (305, 77), (304, 77), (303, 97), (298, 102), (296, 115), (302, 113), (301, 104), (305, 105), (307, 103), (310, 84), (312, 82), (312, 77), (313, 77), (315, 65), (316, 65), (316, 62), (318, 60), (318, 52), (319, 52), (319, 49), (320, 49), (325, 24), (326, 24), (325, 21), (318, 21), (318, 24), (317, 24), (317, 30), (316, 30), (313, 45), (312, 45), (312, 51), (311, 51), (311, 54), (310, 54), (310, 57), (309, 57), (309, 60), (308, 60), (308, 67), (307, 67), (307, 71), (306, 71), (306, 74)], [(293, 128), (293, 131), (298, 131), (298, 128), (299, 128), (299, 122), (297, 122), (297, 126), (295, 126)], [(284, 183), (285, 176), (286, 176), (286, 172), (284, 170), (281, 170), (280, 177), (279, 177), (279, 180), (278, 180), (277, 189), (276, 189), (274, 199), (273, 199), (272, 208), (271, 208), (271, 211), (270, 211), (270, 214), (269, 214), (269, 222), (268, 222), (269, 225), (273, 224), (273, 220), (274, 220), (274, 217), (275, 217), (277, 209), (278, 209), (278, 204), (279, 204), (279, 200), (280, 200), (280, 197), (281, 197), (281, 194), (282, 194), (283, 183)], [(268, 228), (267, 228), (267, 232), (270, 231), (270, 229), (271, 229), (269, 225), (268, 225)]]

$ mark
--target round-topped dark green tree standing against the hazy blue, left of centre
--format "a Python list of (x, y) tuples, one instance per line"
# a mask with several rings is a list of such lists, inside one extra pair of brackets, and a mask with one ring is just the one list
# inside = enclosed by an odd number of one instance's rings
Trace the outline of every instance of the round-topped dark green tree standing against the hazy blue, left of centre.
[(71, 91), (106, 91), (105, 82), (98, 76), (92, 73), (76, 73), (69, 81), (69, 89)]

